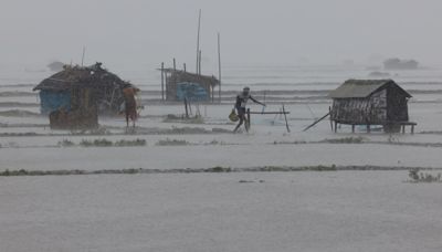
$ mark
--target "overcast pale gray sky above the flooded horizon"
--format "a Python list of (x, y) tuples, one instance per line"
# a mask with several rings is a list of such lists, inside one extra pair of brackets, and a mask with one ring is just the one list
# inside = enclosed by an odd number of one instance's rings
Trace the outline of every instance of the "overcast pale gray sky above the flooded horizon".
[(379, 56), (442, 64), (439, 0), (0, 0), (0, 63), (103, 61), (151, 67), (176, 56), (194, 66), (201, 49), (227, 64), (312, 64)]

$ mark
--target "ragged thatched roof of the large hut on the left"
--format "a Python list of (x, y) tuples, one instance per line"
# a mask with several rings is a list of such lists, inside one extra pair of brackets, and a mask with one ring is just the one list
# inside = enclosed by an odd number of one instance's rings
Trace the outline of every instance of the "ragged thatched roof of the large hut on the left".
[(128, 82), (120, 80), (116, 74), (102, 69), (102, 63), (92, 66), (71, 66), (65, 65), (64, 70), (43, 80), (33, 91), (51, 90), (64, 91), (71, 87), (93, 87), (101, 88), (104, 86), (124, 87), (130, 85)]

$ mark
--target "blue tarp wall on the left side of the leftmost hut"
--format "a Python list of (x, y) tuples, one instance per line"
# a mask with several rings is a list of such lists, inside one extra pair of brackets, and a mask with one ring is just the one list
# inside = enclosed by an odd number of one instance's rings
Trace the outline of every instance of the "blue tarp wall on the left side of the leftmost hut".
[(71, 109), (70, 91), (40, 91), (40, 111), (42, 114), (50, 114), (59, 108)]

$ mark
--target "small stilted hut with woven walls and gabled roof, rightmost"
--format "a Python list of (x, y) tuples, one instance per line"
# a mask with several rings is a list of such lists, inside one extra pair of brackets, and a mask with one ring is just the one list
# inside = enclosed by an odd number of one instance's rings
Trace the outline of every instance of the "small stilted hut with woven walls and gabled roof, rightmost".
[(389, 130), (409, 120), (411, 95), (392, 80), (348, 80), (329, 97), (330, 119), (335, 124), (382, 125)]

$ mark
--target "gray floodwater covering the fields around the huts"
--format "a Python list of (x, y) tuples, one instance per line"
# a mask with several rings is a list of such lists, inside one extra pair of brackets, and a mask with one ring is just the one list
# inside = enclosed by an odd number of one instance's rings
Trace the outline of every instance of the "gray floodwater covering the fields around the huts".
[[(39, 70), (39, 67), (34, 67)], [(194, 104), (200, 124), (170, 122), (159, 72), (115, 71), (143, 91), (133, 134), (123, 118), (101, 132), (51, 130), (32, 87), (48, 71), (0, 71), (0, 171), (377, 166), (390, 171), (138, 174), (0, 177), (0, 251), (441, 251), (440, 187), (410, 183), (407, 168), (441, 168), (442, 70), (390, 72), (413, 98), (415, 134), (338, 134), (326, 97), (364, 66), (227, 66), (222, 104)], [(253, 115), (230, 134), (235, 92), (250, 86), (283, 117)], [(265, 95), (264, 95), (265, 94)], [(261, 112), (259, 105), (252, 111)], [(330, 139), (344, 139), (336, 144)], [(146, 140), (84, 147), (82, 141)], [(360, 139), (355, 141), (355, 139)], [(63, 143), (71, 143), (65, 146)], [(161, 144), (169, 143), (169, 144)], [(181, 144), (177, 144), (181, 143)], [(439, 171), (429, 171), (436, 174)]]

